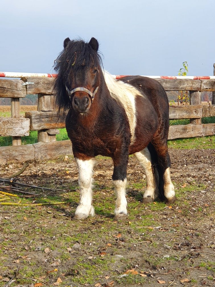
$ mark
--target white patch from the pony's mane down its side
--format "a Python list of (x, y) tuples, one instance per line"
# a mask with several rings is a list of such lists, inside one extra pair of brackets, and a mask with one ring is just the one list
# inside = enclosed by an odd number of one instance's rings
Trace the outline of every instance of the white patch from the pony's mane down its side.
[(114, 98), (118, 104), (121, 104), (125, 109), (130, 126), (131, 144), (133, 144), (135, 141), (136, 128), (135, 97), (142, 96), (142, 94), (133, 86), (122, 81), (117, 81), (106, 71), (104, 72), (104, 78), (112, 98)]

